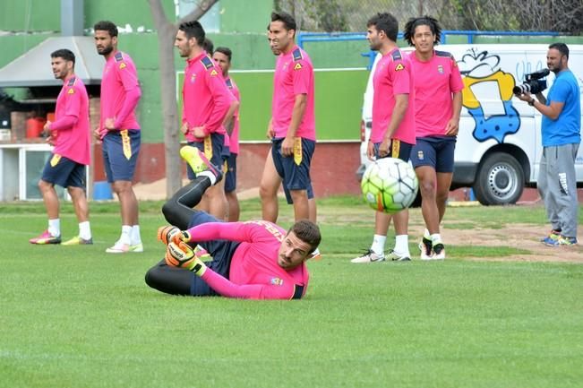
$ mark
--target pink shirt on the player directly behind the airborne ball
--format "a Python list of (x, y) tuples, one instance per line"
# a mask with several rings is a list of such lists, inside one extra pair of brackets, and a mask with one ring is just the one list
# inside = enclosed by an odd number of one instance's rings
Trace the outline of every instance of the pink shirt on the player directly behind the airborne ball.
[(395, 108), (395, 96), (408, 94), (407, 112), (393, 139), (415, 144), (415, 89), (411, 62), (399, 48), (382, 56), (373, 75), (373, 129), (371, 142), (382, 142)]

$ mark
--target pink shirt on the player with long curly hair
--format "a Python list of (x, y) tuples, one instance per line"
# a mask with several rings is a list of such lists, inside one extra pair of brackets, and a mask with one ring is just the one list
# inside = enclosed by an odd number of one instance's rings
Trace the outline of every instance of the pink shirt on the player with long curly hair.
[(445, 51), (433, 51), (433, 57), (420, 61), (415, 52), (409, 55), (415, 73), (416, 136), (442, 136), (453, 116), (451, 93), (462, 91), (458, 64)]

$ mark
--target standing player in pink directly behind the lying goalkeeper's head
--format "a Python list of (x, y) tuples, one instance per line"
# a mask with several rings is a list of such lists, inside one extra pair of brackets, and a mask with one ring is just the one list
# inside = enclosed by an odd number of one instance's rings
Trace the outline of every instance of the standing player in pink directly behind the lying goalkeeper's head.
[(272, 146), (261, 177), (262, 218), (278, 218), (277, 192), (283, 181), (287, 203), (296, 220), (315, 221), (308, 199), (313, 198), (310, 164), (315, 148), (313, 65), (296, 46), (296, 21), (287, 13), (272, 13), (270, 48), (278, 56), (274, 74), (272, 116), (268, 138)]

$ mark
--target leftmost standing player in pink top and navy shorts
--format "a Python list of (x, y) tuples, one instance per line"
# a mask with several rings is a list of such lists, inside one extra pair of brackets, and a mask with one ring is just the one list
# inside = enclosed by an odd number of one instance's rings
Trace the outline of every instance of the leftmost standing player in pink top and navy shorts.
[(47, 121), (47, 142), (55, 148), (39, 180), (39, 191), (47, 208), (48, 228), (30, 244), (60, 244), (61, 222), (55, 185), (66, 187), (79, 220), (79, 235), (66, 246), (93, 244), (89, 205), (85, 196), (86, 166), (90, 164), (89, 97), (83, 82), (75, 75), (75, 55), (66, 48), (51, 54), (55, 78), (63, 81), (56, 99), (55, 122)]

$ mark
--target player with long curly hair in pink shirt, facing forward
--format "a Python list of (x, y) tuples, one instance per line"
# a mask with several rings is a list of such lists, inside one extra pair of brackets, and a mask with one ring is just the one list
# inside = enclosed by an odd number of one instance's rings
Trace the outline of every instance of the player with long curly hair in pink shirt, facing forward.
[(435, 50), (442, 28), (436, 19), (410, 19), (404, 37), (415, 51), (410, 54), (415, 73), (416, 145), (411, 162), (419, 178), (425, 231), (419, 244), (421, 260), (442, 260), (445, 247), (440, 222), (450, 193), (453, 154), (461, 112), (461, 80), (455, 58)]

